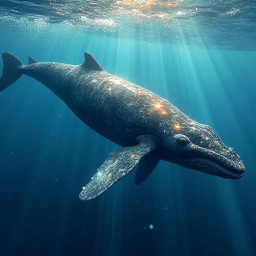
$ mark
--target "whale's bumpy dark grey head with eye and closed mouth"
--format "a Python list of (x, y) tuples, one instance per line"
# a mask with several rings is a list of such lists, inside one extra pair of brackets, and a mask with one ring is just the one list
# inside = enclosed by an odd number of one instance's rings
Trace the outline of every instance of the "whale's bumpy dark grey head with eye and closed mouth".
[(198, 122), (174, 126), (170, 161), (222, 178), (237, 179), (245, 171), (240, 156), (213, 129)]

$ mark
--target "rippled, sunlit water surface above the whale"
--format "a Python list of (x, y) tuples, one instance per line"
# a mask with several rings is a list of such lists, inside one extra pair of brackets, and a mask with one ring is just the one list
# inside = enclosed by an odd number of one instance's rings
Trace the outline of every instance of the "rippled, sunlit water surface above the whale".
[(0, 0), (1, 26), (33, 22), (81, 33), (256, 48), (255, 0)]

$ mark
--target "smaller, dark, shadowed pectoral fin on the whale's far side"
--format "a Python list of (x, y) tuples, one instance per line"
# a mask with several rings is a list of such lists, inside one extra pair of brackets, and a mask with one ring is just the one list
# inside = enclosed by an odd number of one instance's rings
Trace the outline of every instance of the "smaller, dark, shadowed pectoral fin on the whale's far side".
[(144, 156), (139, 161), (135, 174), (135, 183), (137, 185), (143, 183), (145, 179), (150, 175), (150, 173), (154, 170), (158, 162), (159, 158), (157, 158), (153, 152)]

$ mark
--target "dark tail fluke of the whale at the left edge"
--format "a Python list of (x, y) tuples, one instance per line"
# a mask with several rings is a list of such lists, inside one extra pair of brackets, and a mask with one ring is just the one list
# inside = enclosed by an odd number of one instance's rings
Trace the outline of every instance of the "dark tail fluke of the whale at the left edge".
[(20, 60), (8, 52), (2, 53), (2, 76), (0, 78), (0, 91), (10, 86), (16, 81), (22, 74), (19, 67), (22, 66)]

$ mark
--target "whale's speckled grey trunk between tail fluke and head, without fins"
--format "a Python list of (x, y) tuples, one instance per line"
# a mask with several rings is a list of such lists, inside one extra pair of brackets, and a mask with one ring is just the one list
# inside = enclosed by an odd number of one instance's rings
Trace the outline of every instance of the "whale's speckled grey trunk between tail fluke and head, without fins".
[(136, 144), (142, 134), (168, 132), (167, 126), (180, 118), (190, 119), (153, 92), (104, 70), (39, 62), (22, 67), (22, 73), (43, 83), (86, 125), (120, 146)]

